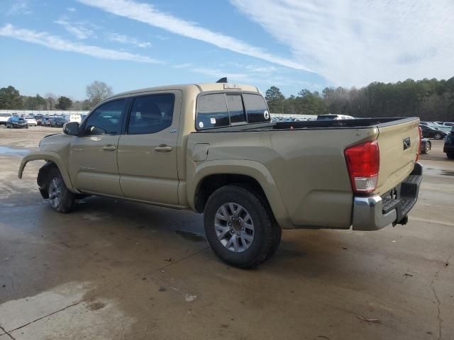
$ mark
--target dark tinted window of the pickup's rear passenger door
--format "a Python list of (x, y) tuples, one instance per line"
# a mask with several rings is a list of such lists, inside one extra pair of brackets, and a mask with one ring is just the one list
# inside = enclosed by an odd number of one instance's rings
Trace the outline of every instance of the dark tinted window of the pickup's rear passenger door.
[(128, 124), (128, 134), (155, 133), (172, 125), (175, 96), (155, 94), (134, 99)]

